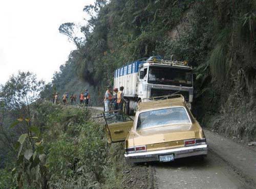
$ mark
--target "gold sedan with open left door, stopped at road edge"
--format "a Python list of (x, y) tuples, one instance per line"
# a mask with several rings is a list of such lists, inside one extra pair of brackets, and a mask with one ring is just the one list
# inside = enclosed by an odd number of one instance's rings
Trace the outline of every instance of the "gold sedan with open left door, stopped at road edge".
[(130, 163), (173, 161), (208, 151), (204, 132), (182, 95), (140, 103), (134, 120), (110, 113), (105, 120), (109, 142), (125, 141)]

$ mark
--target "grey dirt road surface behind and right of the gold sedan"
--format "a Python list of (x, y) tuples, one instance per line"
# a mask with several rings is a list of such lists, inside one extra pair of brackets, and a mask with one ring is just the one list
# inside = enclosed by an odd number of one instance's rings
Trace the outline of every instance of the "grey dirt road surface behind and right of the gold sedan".
[(203, 160), (190, 157), (152, 164), (155, 188), (256, 188), (256, 152), (205, 132), (208, 156)]

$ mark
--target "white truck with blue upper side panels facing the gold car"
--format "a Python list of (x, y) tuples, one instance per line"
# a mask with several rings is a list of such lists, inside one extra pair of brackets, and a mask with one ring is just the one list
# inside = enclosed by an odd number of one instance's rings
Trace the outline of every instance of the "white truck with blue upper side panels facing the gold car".
[(136, 111), (139, 101), (171, 94), (182, 94), (191, 108), (193, 102), (193, 68), (187, 62), (150, 57), (115, 70), (114, 88), (124, 87), (126, 113)]

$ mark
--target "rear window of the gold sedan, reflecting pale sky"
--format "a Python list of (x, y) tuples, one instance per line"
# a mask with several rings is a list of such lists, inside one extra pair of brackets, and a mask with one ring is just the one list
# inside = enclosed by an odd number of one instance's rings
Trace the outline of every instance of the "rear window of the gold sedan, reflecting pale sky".
[(179, 123), (190, 123), (187, 112), (184, 107), (171, 107), (140, 113), (137, 130)]

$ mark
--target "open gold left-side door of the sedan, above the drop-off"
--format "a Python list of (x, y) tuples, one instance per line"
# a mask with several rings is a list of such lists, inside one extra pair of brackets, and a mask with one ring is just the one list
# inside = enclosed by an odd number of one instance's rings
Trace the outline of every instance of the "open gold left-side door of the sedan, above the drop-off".
[(105, 131), (109, 143), (122, 142), (126, 139), (133, 126), (133, 119), (125, 114), (104, 112)]

